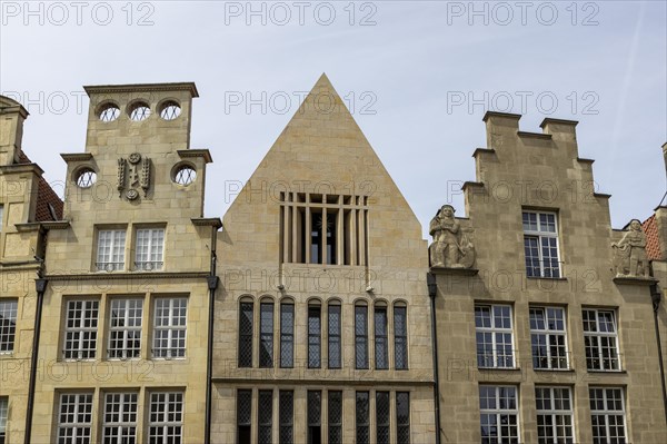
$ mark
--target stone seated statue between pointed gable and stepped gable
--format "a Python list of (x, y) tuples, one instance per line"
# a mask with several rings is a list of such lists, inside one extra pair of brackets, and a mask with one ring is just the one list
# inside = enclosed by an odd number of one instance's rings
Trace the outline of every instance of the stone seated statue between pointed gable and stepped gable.
[(454, 217), (451, 205), (444, 205), (431, 219), (429, 234), (434, 243), (429, 247), (431, 267), (470, 268), (475, 263), (475, 247)]

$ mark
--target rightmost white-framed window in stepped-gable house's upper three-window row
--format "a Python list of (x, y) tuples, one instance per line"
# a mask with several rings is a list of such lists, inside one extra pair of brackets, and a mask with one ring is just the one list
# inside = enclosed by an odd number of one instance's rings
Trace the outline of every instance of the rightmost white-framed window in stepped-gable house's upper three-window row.
[(618, 330), (614, 310), (585, 309), (583, 318), (586, 367), (589, 371), (619, 371)]

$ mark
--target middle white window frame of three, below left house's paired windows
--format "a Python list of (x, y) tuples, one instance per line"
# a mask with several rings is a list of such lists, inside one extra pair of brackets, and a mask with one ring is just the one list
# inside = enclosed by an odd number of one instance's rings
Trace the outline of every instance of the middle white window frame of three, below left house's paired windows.
[[(121, 316), (118, 319), (121, 325), (113, 325), (113, 313), (120, 310)], [(130, 316), (135, 310), (135, 316)], [(133, 322), (135, 325), (129, 325)], [(109, 306), (109, 342), (107, 343), (107, 357), (109, 359), (131, 359), (141, 356), (141, 329), (143, 325), (143, 299), (138, 297), (132, 298), (113, 298)], [(122, 348), (113, 347), (113, 334), (119, 334), (122, 343)], [(133, 334), (133, 337), (130, 337)], [(138, 348), (128, 348), (130, 342), (139, 342)], [(116, 353), (115, 353), (116, 352)], [(120, 352), (120, 356), (118, 356)], [(129, 353), (135, 352), (135, 353)]]

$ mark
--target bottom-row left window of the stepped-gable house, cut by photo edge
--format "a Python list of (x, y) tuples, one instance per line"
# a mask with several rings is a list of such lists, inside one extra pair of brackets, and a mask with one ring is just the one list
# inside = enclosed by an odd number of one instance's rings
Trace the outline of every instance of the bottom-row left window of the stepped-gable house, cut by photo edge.
[(480, 385), (479, 413), (482, 443), (519, 442), (516, 387)]

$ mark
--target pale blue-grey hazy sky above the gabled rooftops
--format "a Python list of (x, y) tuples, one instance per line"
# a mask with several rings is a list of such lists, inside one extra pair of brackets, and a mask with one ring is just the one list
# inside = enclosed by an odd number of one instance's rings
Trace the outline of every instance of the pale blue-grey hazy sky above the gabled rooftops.
[(83, 85), (195, 81), (191, 147), (212, 152), (222, 216), (326, 72), (425, 227), (445, 203), (464, 216), (488, 109), (532, 132), (578, 120), (615, 228), (666, 190), (665, 1), (0, 3), (0, 93), (28, 108), (49, 181), (84, 149)]

